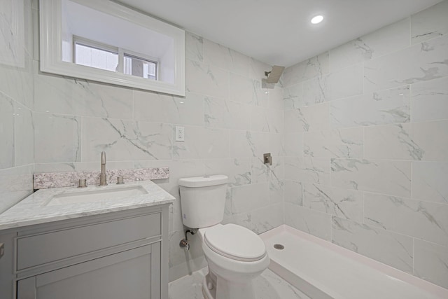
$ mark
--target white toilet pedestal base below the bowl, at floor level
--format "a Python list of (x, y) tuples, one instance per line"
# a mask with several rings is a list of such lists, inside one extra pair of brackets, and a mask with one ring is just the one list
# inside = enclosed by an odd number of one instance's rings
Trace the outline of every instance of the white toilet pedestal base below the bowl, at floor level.
[(202, 295), (205, 299), (255, 299), (252, 281), (248, 284), (235, 284), (210, 272), (202, 280)]

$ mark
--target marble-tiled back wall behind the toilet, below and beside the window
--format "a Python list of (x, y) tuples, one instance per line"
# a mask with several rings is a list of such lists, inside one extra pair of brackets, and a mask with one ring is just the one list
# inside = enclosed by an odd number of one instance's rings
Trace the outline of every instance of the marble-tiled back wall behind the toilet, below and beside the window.
[[(35, 172), (167, 166), (156, 181), (177, 200), (170, 214), (170, 280), (204, 267), (197, 236), (186, 254), (178, 180), (226, 174), (225, 221), (264, 232), (283, 223), (283, 89), (261, 88), (267, 64), (186, 34), (186, 97), (34, 71)], [(185, 142), (174, 141), (176, 125)], [(267, 168), (262, 154), (270, 152)]]

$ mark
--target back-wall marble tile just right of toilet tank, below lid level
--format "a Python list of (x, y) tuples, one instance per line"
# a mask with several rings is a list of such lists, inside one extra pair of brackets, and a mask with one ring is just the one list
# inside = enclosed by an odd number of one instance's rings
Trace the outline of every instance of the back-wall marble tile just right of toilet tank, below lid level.
[(269, 204), (269, 186), (267, 183), (231, 188), (232, 213), (240, 214)]

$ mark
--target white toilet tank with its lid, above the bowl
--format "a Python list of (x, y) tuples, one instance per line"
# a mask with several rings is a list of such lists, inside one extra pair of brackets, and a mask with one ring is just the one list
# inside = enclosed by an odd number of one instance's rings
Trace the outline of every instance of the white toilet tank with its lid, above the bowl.
[(207, 228), (223, 221), (227, 181), (222, 174), (179, 179), (183, 225)]

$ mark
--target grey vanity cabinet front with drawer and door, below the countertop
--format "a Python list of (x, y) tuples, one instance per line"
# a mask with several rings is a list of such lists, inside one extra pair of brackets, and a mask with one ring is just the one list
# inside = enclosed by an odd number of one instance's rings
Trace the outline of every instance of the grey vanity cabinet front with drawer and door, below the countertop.
[(15, 231), (15, 298), (167, 298), (168, 205)]

